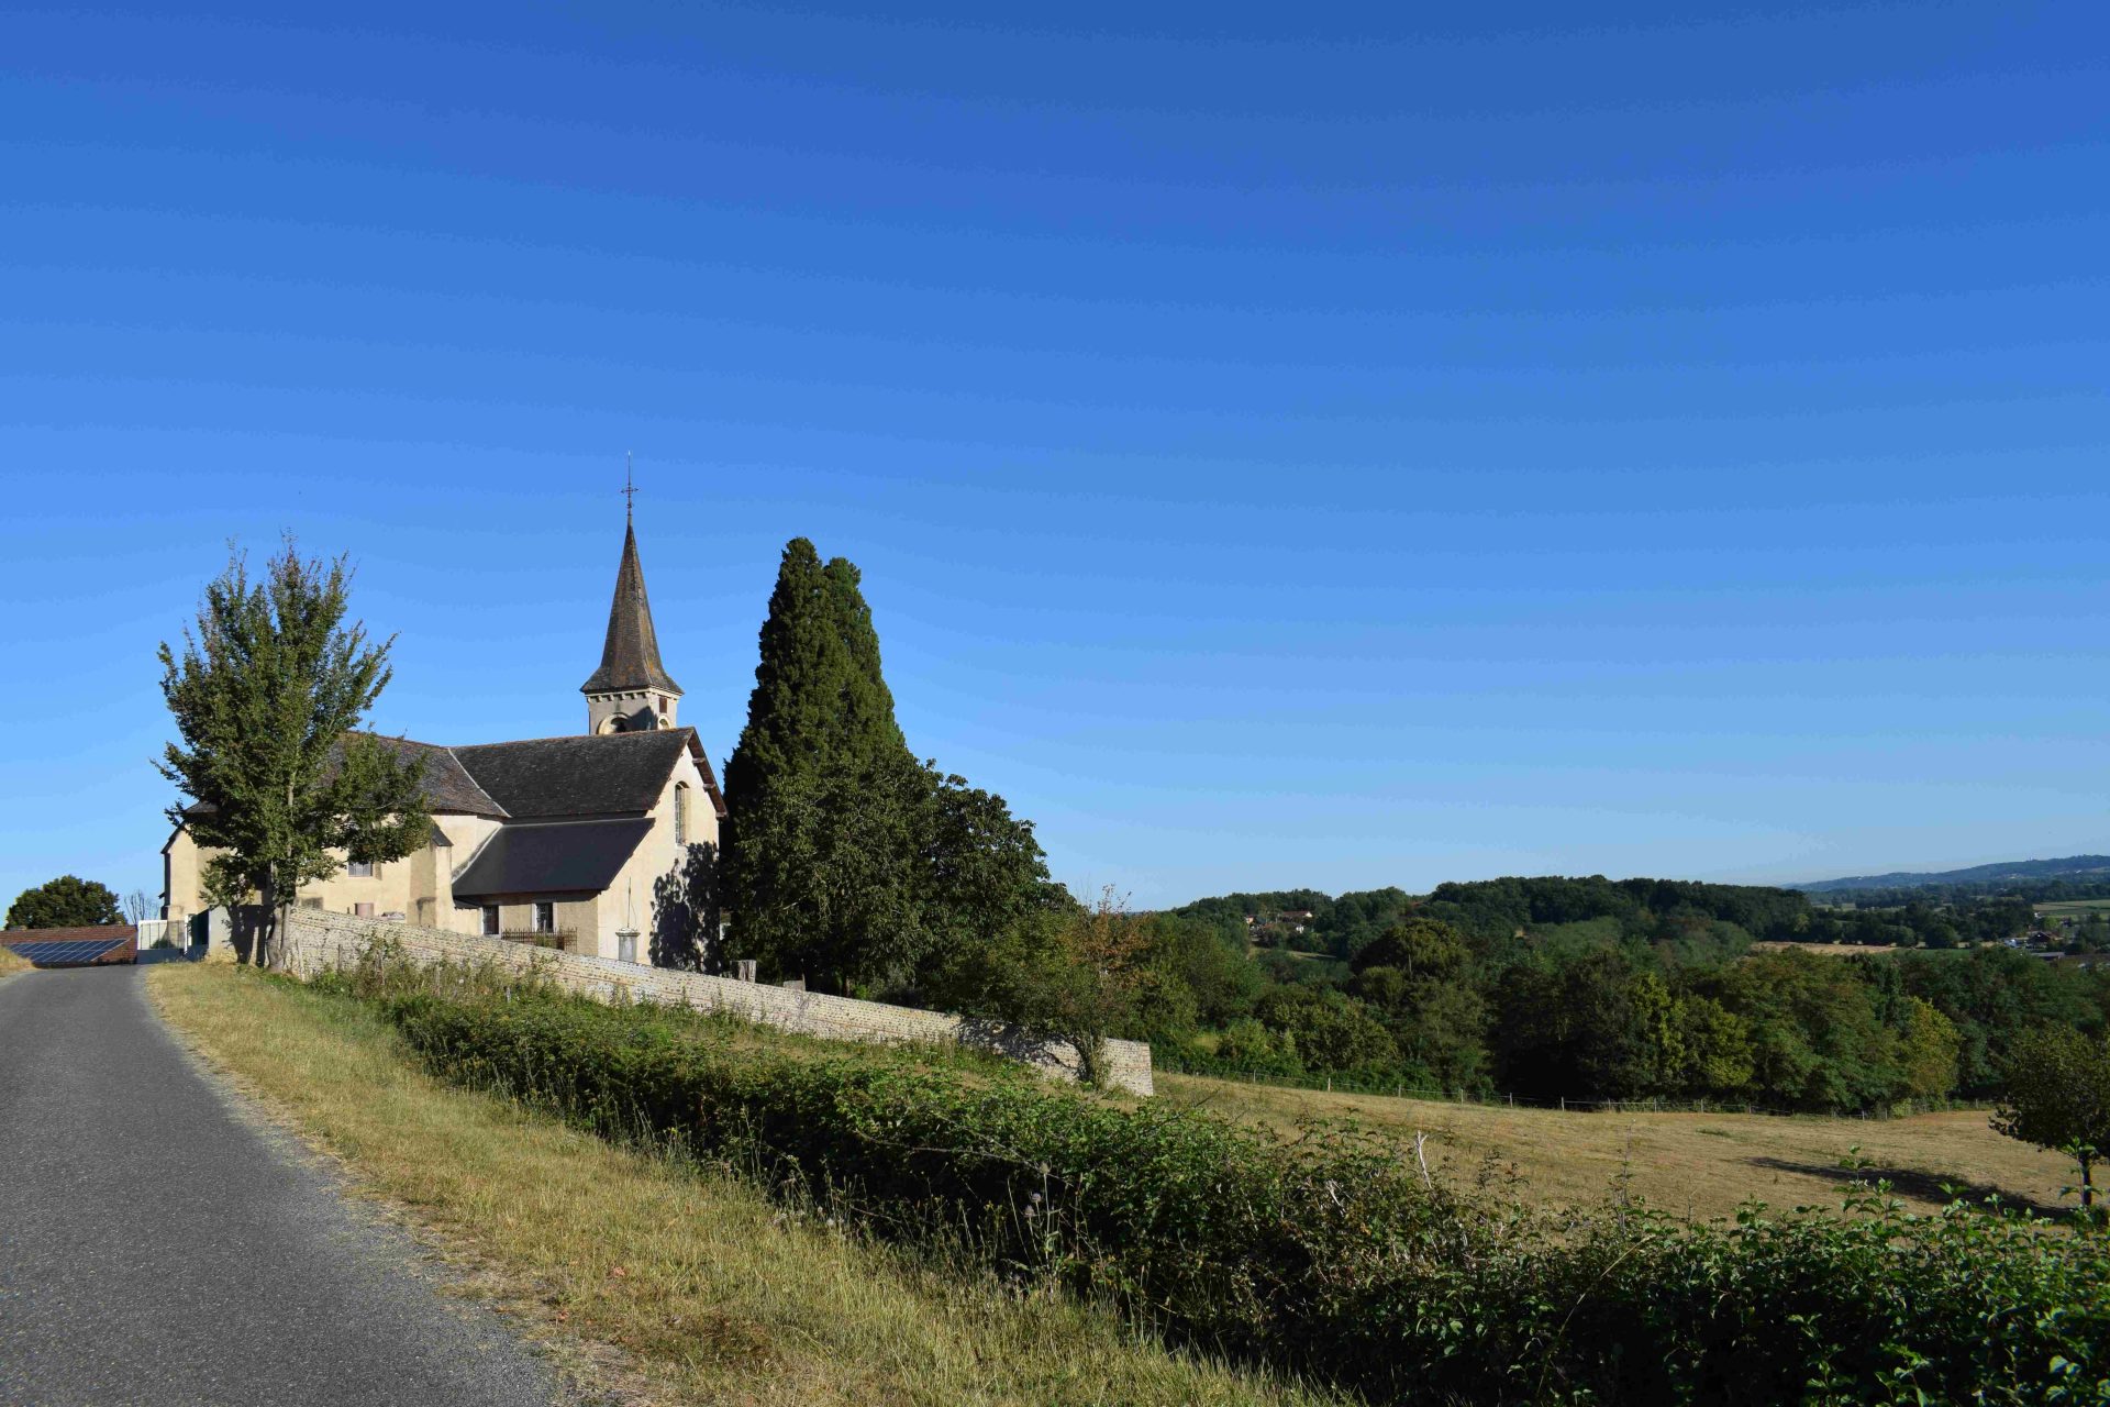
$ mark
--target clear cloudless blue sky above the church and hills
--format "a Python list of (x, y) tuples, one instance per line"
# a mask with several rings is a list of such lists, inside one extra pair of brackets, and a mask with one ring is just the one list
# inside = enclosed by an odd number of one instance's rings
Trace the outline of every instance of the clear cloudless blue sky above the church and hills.
[(11, 11), (0, 899), (230, 538), (580, 730), (631, 449), (715, 759), (810, 536), (1080, 890), (2110, 850), (2110, 13), (1585, 8)]

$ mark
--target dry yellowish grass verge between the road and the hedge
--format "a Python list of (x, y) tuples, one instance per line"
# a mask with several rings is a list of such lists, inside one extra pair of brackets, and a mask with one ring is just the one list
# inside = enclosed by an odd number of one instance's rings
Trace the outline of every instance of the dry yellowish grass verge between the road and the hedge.
[(228, 964), (156, 966), (148, 991), (194, 1051), (452, 1261), (462, 1293), (618, 1401), (1331, 1401), (437, 1084), (346, 998)]

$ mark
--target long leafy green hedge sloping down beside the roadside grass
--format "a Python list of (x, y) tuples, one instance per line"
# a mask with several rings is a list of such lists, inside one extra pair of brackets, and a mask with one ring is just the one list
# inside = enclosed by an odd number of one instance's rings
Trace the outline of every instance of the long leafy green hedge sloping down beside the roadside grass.
[(1553, 1219), (1355, 1131), (1279, 1141), (1034, 1076), (734, 1040), (654, 1008), (395, 996), (426, 1065), (964, 1234), (1160, 1333), (1374, 1401), (2110, 1401), (2097, 1234), (1874, 1194), (1853, 1217)]

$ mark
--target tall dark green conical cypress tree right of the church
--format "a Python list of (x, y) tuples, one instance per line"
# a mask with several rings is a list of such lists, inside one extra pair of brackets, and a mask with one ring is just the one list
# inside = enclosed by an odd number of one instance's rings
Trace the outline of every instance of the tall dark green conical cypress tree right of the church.
[(857, 567), (785, 544), (747, 726), (726, 759), (736, 953), (842, 987), (920, 949), (918, 768)]

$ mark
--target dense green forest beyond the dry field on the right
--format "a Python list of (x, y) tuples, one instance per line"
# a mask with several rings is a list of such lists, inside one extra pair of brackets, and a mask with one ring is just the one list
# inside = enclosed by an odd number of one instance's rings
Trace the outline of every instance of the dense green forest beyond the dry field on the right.
[(1123, 1034), (1205, 1074), (1865, 1112), (1992, 1097), (2021, 1032), (2110, 1017), (2110, 968), (2000, 943), (2030, 928), (2017, 894), (1834, 909), (1789, 888), (1504, 878), (1222, 894), (1144, 922), (1154, 977)]

